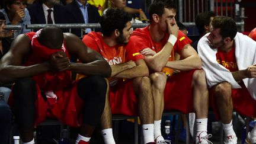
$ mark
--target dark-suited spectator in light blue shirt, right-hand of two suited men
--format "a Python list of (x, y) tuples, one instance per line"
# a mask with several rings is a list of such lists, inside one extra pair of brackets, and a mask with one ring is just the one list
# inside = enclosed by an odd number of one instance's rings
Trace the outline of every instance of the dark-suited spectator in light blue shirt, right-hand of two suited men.
[[(100, 14), (98, 9), (91, 4), (87, 3), (87, 0), (74, 0), (71, 4), (66, 5), (71, 15), (71, 23), (88, 24), (98, 23), (100, 21)], [(85, 28), (83, 34), (87, 34), (91, 31), (91, 28)], [(72, 30), (72, 33), (81, 37), (81, 28)]]

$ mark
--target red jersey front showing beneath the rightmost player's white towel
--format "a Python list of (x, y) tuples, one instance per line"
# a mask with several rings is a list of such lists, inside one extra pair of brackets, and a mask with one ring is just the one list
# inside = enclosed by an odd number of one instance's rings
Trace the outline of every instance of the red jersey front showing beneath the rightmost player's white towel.
[(222, 50), (218, 49), (216, 53), (216, 59), (220, 65), (224, 66), (226, 69), (229, 69), (229, 71), (238, 71), (234, 45), (231, 51), (229, 51), (228, 53), (225, 53)]

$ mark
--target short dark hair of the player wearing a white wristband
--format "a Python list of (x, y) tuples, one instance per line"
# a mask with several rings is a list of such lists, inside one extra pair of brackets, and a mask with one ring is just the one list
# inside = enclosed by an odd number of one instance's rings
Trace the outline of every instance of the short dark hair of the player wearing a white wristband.
[(149, 6), (149, 20), (152, 22), (152, 15), (157, 14), (161, 17), (164, 14), (164, 8), (174, 9), (176, 11), (177, 6), (174, 0), (154, 0)]

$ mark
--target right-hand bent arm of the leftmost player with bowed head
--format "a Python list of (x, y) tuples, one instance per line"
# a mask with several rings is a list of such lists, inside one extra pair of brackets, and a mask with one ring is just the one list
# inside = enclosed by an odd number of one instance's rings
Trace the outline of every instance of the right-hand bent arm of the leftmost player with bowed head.
[(82, 75), (111, 76), (111, 68), (107, 61), (97, 52), (85, 46), (82, 41), (71, 33), (64, 34), (69, 53), (77, 57), (82, 63), (71, 63), (68, 70)]

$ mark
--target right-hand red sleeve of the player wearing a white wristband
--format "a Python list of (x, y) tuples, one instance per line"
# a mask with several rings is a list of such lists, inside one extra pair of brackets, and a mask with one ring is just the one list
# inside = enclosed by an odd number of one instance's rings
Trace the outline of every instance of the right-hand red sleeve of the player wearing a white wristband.
[(180, 30), (178, 31), (178, 38), (176, 43), (174, 44), (174, 52), (180, 54), (183, 47), (187, 44), (191, 44), (192, 41)]

